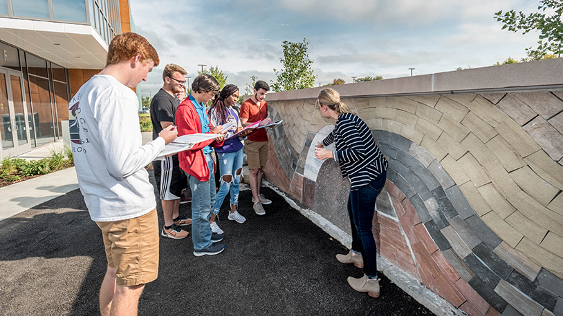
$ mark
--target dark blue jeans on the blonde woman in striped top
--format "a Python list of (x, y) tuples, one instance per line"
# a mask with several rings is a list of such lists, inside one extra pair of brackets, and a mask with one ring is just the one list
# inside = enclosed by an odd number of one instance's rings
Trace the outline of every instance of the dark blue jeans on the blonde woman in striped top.
[(371, 226), (376, 211), (376, 199), (385, 186), (387, 172), (373, 179), (367, 186), (350, 190), (348, 197), (348, 215), (352, 227), (352, 251), (362, 253), (364, 273), (367, 277), (377, 277), (377, 246), (373, 239)]

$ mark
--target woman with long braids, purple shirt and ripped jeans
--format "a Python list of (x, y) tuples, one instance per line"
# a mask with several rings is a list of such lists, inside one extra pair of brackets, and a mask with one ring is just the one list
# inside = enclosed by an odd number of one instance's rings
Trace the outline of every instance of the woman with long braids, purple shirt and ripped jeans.
[[(210, 226), (214, 233), (223, 234), (223, 230), (217, 226), (216, 219), (219, 215), (219, 209), (223, 205), (223, 201), (230, 190), (230, 213), (228, 219), (237, 221), (237, 223), (244, 223), (246, 218), (239, 214), (237, 207), (239, 204), (239, 182), (241, 179), (242, 171), (242, 148), (240, 137), (246, 137), (248, 131), (241, 132), (239, 137), (228, 139), (234, 133), (240, 132), (243, 128), (237, 111), (232, 106), (237, 103), (239, 99), (239, 88), (234, 84), (228, 84), (219, 92), (219, 97), (215, 98), (212, 106), (207, 112), (211, 123), (214, 126), (232, 123), (231, 128), (226, 130), (225, 143), (223, 146), (215, 148), (217, 153), (220, 172), (220, 186), (219, 192), (215, 199), (215, 205), (211, 213)], [(225, 132), (225, 131), (223, 131)]]

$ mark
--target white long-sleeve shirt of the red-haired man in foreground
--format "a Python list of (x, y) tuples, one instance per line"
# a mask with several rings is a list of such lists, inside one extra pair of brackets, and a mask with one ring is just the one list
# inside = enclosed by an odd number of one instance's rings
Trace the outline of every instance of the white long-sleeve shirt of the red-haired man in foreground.
[[(69, 106), (69, 125), (80, 191), (93, 221), (119, 221), (156, 207), (147, 166), (165, 146), (142, 146), (135, 92), (109, 75), (96, 75)], [(75, 120), (73, 120), (75, 114)]]

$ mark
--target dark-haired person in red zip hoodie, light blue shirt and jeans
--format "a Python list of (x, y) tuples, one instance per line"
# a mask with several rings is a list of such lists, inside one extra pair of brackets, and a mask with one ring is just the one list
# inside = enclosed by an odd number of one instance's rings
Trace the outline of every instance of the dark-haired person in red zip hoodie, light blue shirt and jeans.
[[(214, 127), (205, 104), (219, 91), (219, 83), (210, 75), (199, 75), (192, 83), (192, 94), (188, 95), (176, 110), (178, 136), (195, 133), (222, 132), (221, 126)], [(211, 210), (215, 203), (215, 165), (212, 146), (223, 146), (223, 136), (202, 141), (192, 149), (178, 152), (180, 168), (184, 170), (192, 188), (192, 241), (194, 255), (216, 255), (225, 250), (225, 245), (214, 244), (224, 236), (213, 233), (209, 225)], [(212, 172), (210, 172), (212, 170)]]

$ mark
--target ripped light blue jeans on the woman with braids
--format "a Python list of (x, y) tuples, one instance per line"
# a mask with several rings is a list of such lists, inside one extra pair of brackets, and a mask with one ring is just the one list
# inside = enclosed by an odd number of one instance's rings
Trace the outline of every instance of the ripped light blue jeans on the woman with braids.
[[(231, 195), (231, 204), (239, 204), (239, 184), (241, 181), (240, 173), (242, 173), (242, 148), (236, 152), (217, 152), (217, 157), (219, 157), (217, 165), (219, 165), (219, 174), (221, 177), (219, 177), (219, 192), (217, 192), (215, 205), (213, 207), (213, 213), (215, 215), (219, 214), (219, 209), (221, 208), (221, 205), (223, 205), (223, 201), (225, 200), (229, 190)], [(238, 175), (237, 172), (239, 172)], [(225, 177), (223, 177), (225, 175), (230, 176), (230, 181), (225, 181)]]

